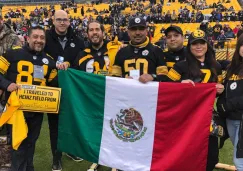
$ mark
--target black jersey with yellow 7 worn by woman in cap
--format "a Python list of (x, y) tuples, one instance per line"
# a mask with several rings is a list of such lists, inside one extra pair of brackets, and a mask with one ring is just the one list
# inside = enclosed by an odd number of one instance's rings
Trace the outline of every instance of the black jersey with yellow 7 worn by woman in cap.
[[(182, 80), (190, 79), (194, 82), (199, 82), (199, 83), (215, 82), (213, 80), (213, 73), (206, 63), (201, 63), (198, 61), (198, 66), (202, 73), (200, 78), (192, 78), (192, 76), (190, 76), (187, 61), (181, 61), (176, 63), (173, 66), (173, 68), (169, 70), (167, 76), (171, 81), (182, 81)], [(217, 72), (218, 83), (222, 83), (223, 81), (222, 70), (220, 64), (218, 63), (217, 63), (216, 72)]]

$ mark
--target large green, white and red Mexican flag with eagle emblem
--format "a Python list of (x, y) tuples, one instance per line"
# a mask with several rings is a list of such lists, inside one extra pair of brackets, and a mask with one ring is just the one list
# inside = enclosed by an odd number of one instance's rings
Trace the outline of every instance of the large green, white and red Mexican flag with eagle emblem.
[(205, 171), (215, 84), (142, 84), (68, 69), (59, 150), (125, 171)]

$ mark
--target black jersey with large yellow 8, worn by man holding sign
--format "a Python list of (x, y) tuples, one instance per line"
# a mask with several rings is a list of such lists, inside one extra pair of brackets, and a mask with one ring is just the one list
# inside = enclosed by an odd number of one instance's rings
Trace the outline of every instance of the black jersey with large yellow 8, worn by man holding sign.
[(56, 63), (44, 52), (36, 54), (29, 47), (14, 47), (0, 56), (0, 74), (17, 84), (45, 86), (57, 75)]

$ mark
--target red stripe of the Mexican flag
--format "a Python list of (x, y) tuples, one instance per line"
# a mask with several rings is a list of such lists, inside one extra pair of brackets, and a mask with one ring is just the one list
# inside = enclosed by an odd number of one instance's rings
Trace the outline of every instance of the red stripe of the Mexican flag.
[(215, 97), (215, 84), (160, 83), (152, 171), (206, 170)]

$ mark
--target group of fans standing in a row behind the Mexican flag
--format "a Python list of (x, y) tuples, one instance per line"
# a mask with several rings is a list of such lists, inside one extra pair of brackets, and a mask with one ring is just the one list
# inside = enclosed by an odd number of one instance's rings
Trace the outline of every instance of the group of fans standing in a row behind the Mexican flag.
[[(0, 33), (6, 27), (1, 18)], [(182, 29), (171, 25), (164, 31), (168, 47), (164, 52), (150, 42), (144, 18), (129, 18), (127, 33), (130, 38), (128, 45), (122, 45), (116, 39), (108, 41), (104, 39), (104, 26), (99, 21), (89, 21), (86, 28), (89, 44), (85, 46), (84, 41), (74, 34), (68, 14), (57, 10), (53, 27), (48, 31), (40, 26), (30, 27), (24, 46), (21, 46), (14, 33), (8, 34), (9, 38), (0, 46), (0, 89), (5, 91), (7, 98), (11, 92), (19, 89), (18, 84), (58, 87), (57, 70), (68, 68), (128, 79), (133, 79), (133, 75), (130, 75), (132, 70), (139, 70), (138, 80), (144, 84), (150, 81), (181, 82), (194, 86), (195, 83), (215, 83), (219, 96), (218, 112), (227, 122), (228, 133), (234, 145), (234, 163), (237, 170), (243, 170), (240, 146), (243, 143), (240, 126), (243, 110), (240, 86), (243, 77), (243, 36), (238, 38), (230, 63), (216, 60), (207, 34), (202, 30), (192, 32), (188, 37), (187, 47), (184, 47)], [(222, 70), (227, 71), (225, 80)], [(52, 170), (60, 171), (62, 152), (57, 149), (59, 116), (47, 115), (53, 155)], [(24, 112), (24, 117), (28, 135), (18, 150), (12, 150), (11, 171), (34, 170), (35, 144), (40, 134), (43, 114)], [(11, 130), (11, 127), (8, 129)], [(218, 153), (218, 137), (210, 135), (207, 171), (215, 168)], [(72, 154), (67, 155), (75, 161), (82, 161)], [(92, 167), (98, 166), (93, 164)]]

